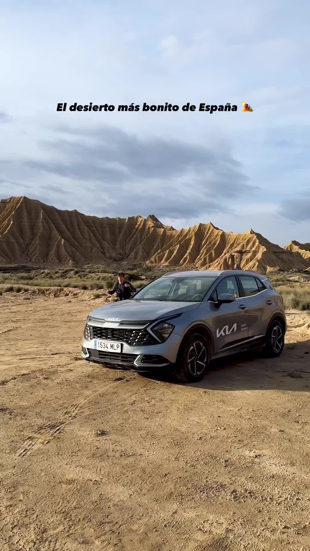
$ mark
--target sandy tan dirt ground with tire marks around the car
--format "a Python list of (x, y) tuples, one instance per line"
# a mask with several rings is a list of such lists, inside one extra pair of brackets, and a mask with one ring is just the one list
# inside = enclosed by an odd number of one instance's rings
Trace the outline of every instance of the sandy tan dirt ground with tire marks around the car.
[(183, 385), (79, 359), (91, 296), (0, 296), (0, 549), (309, 551), (310, 316)]

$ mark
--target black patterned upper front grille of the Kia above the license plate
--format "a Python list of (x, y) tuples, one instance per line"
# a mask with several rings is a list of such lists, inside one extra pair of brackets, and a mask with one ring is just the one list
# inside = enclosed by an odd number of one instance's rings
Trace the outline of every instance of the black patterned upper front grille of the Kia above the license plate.
[(90, 339), (103, 339), (103, 341), (117, 341), (130, 346), (158, 344), (147, 329), (121, 329), (119, 327), (89, 326)]

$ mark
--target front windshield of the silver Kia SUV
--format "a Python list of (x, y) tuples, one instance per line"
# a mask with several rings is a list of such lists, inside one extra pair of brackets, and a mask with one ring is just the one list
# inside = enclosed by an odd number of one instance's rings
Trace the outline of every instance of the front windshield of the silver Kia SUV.
[(130, 300), (201, 302), (215, 280), (215, 276), (161, 277), (146, 285)]

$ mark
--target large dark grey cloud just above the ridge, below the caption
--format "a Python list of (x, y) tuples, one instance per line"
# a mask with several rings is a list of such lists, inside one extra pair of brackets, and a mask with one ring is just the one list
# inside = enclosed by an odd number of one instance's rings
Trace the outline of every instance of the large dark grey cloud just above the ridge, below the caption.
[[(104, 201), (104, 208), (111, 215), (127, 216), (129, 210), (172, 218), (228, 213), (233, 212), (234, 200), (242, 201), (245, 194), (255, 197), (259, 190), (249, 185), (242, 164), (227, 147), (221, 150), (177, 139), (142, 139), (114, 127), (75, 136), (70, 127), (62, 130), (65, 137), (39, 142), (46, 159), (24, 160), (23, 166), (67, 179), (70, 187), (84, 182), (85, 201), (93, 208), (99, 208), (100, 193), (104, 193), (110, 199)], [(41, 187), (53, 189), (51, 185)], [(95, 200), (88, 194), (92, 187), (97, 190)]]

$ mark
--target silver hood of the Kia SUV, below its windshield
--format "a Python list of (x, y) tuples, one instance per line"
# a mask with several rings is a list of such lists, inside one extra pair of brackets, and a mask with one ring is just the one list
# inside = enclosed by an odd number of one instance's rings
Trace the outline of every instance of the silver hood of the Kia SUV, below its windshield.
[(195, 310), (200, 302), (161, 302), (159, 300), (122, 300), (99, 306), (89, 316), (106, 321), (153, 321), (170, 314)]

